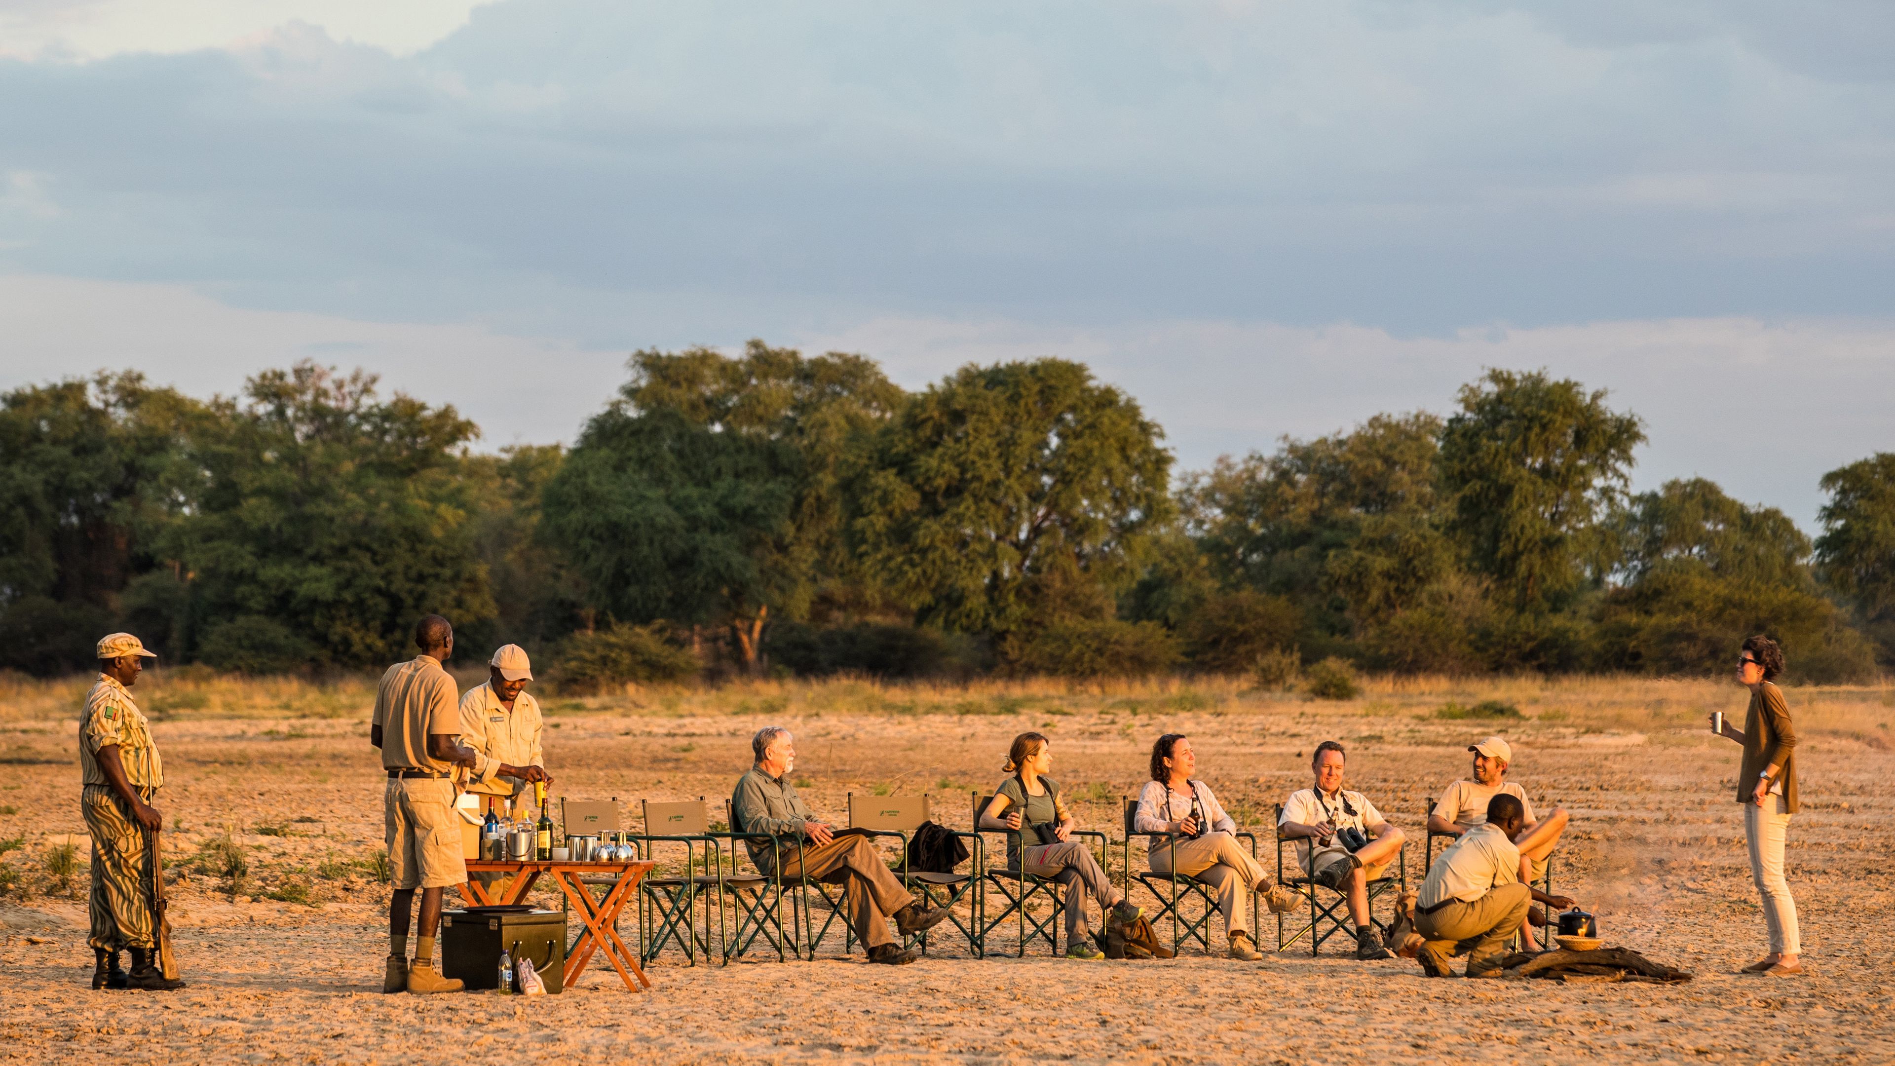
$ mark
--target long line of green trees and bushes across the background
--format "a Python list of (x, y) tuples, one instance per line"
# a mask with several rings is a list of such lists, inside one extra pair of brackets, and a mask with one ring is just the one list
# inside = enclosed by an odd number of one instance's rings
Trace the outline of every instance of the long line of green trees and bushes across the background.
[(1177, 474), (1086, 366), (908, 393), (860, 355), (641, 351), (570, 448), (472, 448), (451, 406), (311, 362), (199, 400), (133, 372), (0, 396), (0, 668), (362, 670), (417, 615), (568, 685), (701, 671), (1721, 671), (1895, 662), (1895, 453), (1823, 476), (1823, 533), (1690, 478), (1643, 421), (1491, 370)]

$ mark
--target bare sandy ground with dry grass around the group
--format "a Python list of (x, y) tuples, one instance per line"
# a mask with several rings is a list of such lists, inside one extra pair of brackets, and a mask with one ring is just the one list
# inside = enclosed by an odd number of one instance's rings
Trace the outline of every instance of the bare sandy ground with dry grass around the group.
[[(387, 890), (362, 865), (379, 846), (381, 778), (366, 713), (286, 709), (171, 715), (155, 725), (176, 823), (178, 994), (91, 992), (83, 899), (0, 903), (0, 1060), (19, 1062), (1889, 1062), (1895, 981), (1889, 859), (1895, 772), (1886, 690), (1791, 690), (1804, 723), (1804, 812), (1791, 825), (1791, 884), (1810, 977), (1734, 973), (1766, 948), (1730, 781), (1738, 751), (1702, 732), (1702, 711), (1742, 713), (1743, 692), (1709, 683), (1510, 683), (1522, 721), (1442, 721), (1463, 694), (1419, 687), (1347, 704), (1169, 687), (1031, 698), (879, 702), (836, 689), (728, 690), (661, 706), (587, 700), (548, 730), (557, 789), (574, 799), (705, 795), (718, 810), (766, 721), (798, 730), (798, 776), (841, 821), (845, 793), (927, 791), (968, 823), (968, 791), (1001, 780), (1021, 728), (1054, 736), (1054, 776), (1088, 797), (1082, 819), (1114, 838), (1116, 802), (1145, 780), (1152, 736), (1181, 730), (1249, 827), (1306, 783), (1323, 738), (1349, 745), (1359, 787), (1410, 835), (1419, 882), (1421, 806), (1465, 776), (1465, 745), (1507, 732), (1514, 780), (1541, 806), (1575, 814), (1558, 888), (1599, 914), (1605, 939), (1696, 973), (1681, 986), (1427, 981), (1406, 960), (1359, 964), (1332, 941), (1260, 964), (1190, 950), (1173, 962), (968, 958), (936, 943), (910, 967), (819, 962), (650, 967), (648, 994), (595, 964), (580, 986), (534, 1000), (383, 996)], [(157, 687), (153, 687), (157, 689)], [(938, 696), (938, 692), (936, 692)], [(63, 694), (59, 698), (64, 698)], [(904, 702), (906, 700), (906, 702)], [(30, 704), (30, 706), (28, 706)], [(44, 704), (44, 706), (42, 706)], [(4, 859), (36, 873), (49, 840), (83, 833), (70, 711), (47, 696), (0, 715)], [(978, 704), (978, 708), (976, 708)], [(555, 704), (557, 706), (557, 704)], [(955, 709), (959, 708), (959, 709)], [(296, 821), (303, 819), (303, 821)], [(188, 861), (226, 829), (254, 874), (231, 901)], [(265, 833), (258, 833), (263, 829)], [(1264, 836), (1266, 865), (1273, 865)], [(83, 852), (83, 850), (81, 850)], [(1120, 867), (1112, 852), (1112, 869)], [(1143, 869), (1135, 846), (1133, 863)], [(258, 899), (284, 886), (313, 901)], [(83, 891), (83, 874), (80, 878)], [(1137, 899), (1146, 901), (1143, 895)], [(631, 922), (627, 922), (627, 928)], [(1264, 918), (1264, 943), (1275, 924)], [(1213, 935), (1222, 947), (1222, 935)], [(1014, 945), (997, 945), (1012, 954)]]

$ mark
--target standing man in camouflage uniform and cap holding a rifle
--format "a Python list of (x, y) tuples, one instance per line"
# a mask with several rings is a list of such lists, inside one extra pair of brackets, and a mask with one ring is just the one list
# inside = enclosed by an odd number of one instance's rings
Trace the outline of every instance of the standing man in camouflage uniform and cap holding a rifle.
[[(146, 835), (165, 819), (152, 806), (165, 783), (165, 764), (152, 744), (152, 726), (131, 698), (146, 658), (131, 634), (99, 641), (99, 683), (80, 711), (80, 810), (93, 835), (93, 893), (85, 910), (93, 922), (93, 988), (150, 988), (169, 992), (182, 981), (165, 979), (153, 964), (157, 939), (152, 897), (146, 895)], [(119, 948), (131, 948), (131, 973), (119, 969)]]

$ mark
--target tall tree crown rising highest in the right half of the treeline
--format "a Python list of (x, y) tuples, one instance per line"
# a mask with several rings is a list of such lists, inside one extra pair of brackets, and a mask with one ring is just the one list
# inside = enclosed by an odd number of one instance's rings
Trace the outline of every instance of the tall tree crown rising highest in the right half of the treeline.
[(1624, 497), (1641, 421), (1544, 372), (1489, 370), (1459, 400), (1440, 434), (1448, 531), (1512, 607), (1567, 607), (1588, 567), (1603, 579), (1599, 522)]

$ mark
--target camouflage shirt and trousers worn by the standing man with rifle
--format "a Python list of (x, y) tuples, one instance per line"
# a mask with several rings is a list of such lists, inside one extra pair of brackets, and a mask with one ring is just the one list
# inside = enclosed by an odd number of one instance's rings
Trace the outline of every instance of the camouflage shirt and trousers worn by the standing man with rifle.
[(93, 893), (87, 903), (93, 931), (87, 943), (108, 952), (152, 948), (144, 829), (99, 766), (99, 749), (112, 744), (119, 747), (125, 781), (138, 799), (152, 802), (165, 783), (165, 764), (152, 744), (152, 726), (131, 692), (100, 673), (99, 683), (85, 692), (85, 709), (80, 713), (80, 808), (93, 835)]

